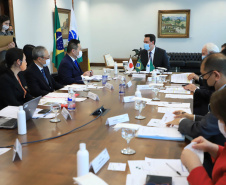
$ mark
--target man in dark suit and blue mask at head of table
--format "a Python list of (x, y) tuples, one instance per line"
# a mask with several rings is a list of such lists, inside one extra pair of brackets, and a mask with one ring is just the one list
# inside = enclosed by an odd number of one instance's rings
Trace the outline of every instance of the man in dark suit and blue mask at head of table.
[(170, 64), (166, 51), (155, 47), (155, 43), (156, 38), (154, 34), (144, 35), (144, 49), (140, 52), (141, 62), (144, 68), (146, 68), (150, 60), (154, 67), (164, 67), (169, 70)]

